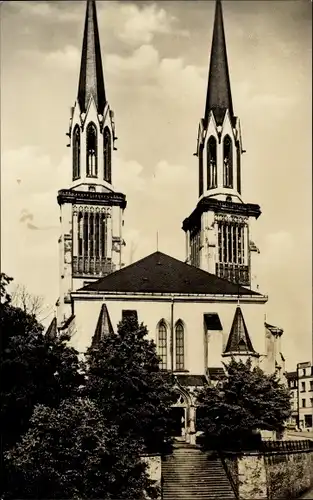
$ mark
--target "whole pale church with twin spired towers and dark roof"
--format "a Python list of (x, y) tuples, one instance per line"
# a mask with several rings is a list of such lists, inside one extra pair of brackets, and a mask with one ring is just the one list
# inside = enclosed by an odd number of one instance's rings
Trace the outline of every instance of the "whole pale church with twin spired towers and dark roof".
[[(107, 100), (96, 4), (88, 0), (76, 102), (68, 132), (72, 183), (58, 193), (60, 296), (49, 333), (67, 331), (81, 354), (116, 332), (127, 315), (143, 322), (160, 368), (174, 375), (178, 435), (195, 442), (194, 391), (216, 383), (223, 365), (248, 357), (284, 374), (283, 331), (265, 323), (256, 282), (259, 250), (251, 221), (259, 205), (242, 193), (244, 154), (234, 114), (221, 1), (216, 1), (204, 115), (197, 139), (198, 199), (182, 222), (186, 260), (155, 252), (122, 266), (125, 194), (114, 187), (115, 125)], [(186, 214), (187, 215), (187, 214)]]

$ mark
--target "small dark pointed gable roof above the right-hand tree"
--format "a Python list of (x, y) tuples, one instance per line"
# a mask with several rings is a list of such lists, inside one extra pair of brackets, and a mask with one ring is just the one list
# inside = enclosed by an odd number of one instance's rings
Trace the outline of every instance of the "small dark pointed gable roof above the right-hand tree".
[(236, 308), (224, 354), (238, 352), (255, 353), (240, 306)]

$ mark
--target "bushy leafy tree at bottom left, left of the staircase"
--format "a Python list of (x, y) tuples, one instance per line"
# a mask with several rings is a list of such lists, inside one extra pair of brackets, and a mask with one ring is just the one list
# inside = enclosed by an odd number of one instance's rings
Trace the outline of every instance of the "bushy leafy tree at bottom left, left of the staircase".
[(4, 498), (143, 499), (154, 489), (141, 451), (87, 398), (64, 400), (58, 408), (38, 405), (28, 432), (6, 454)]

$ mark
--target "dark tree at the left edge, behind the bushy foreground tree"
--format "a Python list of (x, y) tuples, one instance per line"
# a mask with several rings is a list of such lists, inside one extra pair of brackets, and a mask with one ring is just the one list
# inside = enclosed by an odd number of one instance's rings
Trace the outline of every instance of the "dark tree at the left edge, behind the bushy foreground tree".
[[(8, 294), (1, 276), (1, 298)], [(84, 377), (77, 352), (65, 339), (51, 340), (34, 315), (1, 303), (0, 425), (2, 449), (12, 447), (27, 431), (34, 406), (56, 406), (77, 391)]]

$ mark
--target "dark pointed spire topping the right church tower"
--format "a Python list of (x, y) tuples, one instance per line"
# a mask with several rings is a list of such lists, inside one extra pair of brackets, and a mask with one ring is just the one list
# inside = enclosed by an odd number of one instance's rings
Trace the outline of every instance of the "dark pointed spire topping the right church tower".
[(210, 111), (220, 125), (228, 109), (233, 117), (233, 104), (230, 90), (227, 51), (224, 33), (221, 0), (216, 0), (213, 38), (211, 47), (208, 90), (204, 121), (207, 123)]

